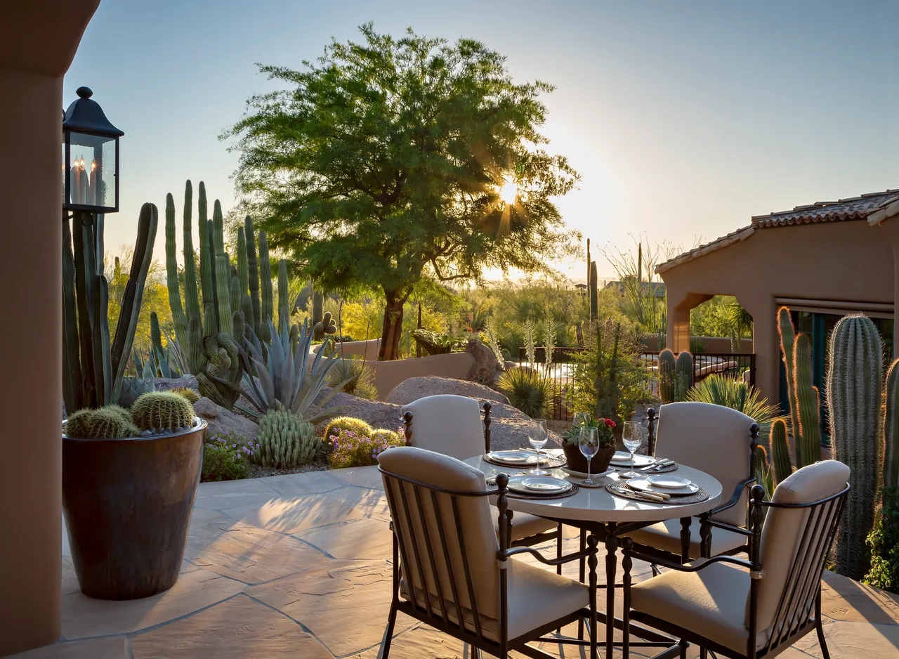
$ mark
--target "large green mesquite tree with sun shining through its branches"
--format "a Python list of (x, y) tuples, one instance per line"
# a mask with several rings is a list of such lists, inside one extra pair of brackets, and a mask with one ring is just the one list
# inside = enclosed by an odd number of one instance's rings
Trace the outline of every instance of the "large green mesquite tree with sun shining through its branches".
[(236, 138), (237, 187), (272, 248), (326, 290), (383, 290), (379, 358), (396, 359), (423, 280), (574, 254), (552, 200), (578, 175), (541, 148), (550, 85), (515, 84), (476, 40), (360, 31), (302, 70), (261, 67), (289, 88), (252, 97), (221, 137)]

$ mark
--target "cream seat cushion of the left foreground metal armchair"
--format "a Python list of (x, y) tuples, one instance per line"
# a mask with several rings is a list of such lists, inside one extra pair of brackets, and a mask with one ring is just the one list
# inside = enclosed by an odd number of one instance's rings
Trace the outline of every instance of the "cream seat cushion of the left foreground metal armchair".
[[(534, 629), (562, 618), (568, 613), (590, 606), (590, 592), (583, 583), (541, 567), (517, 560), (509, 562), (509, 639), (530, 634)], [(400, 593), (410, 600), (408, 585), (400, 582)], [(424, 593), (416, 588), (415, 600), (426, 607)], [(458, 624), (458, 610), (452, 602), (446, 603), (447, 618)], [(431, 598), (432, 611), (441, 616), (440, 601)], [(462, 617), (468, 631), (475, 633), (474, 616), (471, 610), (462, 609)], [(481, 616), (481, 631), (485, 637), (500, 641), (500, 622), (494, 618)]]

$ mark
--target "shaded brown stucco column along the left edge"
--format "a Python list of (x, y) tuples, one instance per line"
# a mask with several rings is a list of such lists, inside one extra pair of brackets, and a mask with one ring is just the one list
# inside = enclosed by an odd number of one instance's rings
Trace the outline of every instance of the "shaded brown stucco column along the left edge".
[(59, 637), (62, 76), (98, 0), (0, 21), (0, 656)]

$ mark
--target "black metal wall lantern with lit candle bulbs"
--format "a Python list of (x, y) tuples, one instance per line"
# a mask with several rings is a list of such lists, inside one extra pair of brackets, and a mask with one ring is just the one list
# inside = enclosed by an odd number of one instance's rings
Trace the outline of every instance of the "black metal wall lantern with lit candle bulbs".
[[(62, 121), (63, 209), (116, 213), (119, 138), (125, 133), (106, 119), (99, 103), (91, 99), (90, 89), (78, 87), (76, 94), (78, 100), (68, 106)], [(85, 155), (91, 158), (90, 165)]]

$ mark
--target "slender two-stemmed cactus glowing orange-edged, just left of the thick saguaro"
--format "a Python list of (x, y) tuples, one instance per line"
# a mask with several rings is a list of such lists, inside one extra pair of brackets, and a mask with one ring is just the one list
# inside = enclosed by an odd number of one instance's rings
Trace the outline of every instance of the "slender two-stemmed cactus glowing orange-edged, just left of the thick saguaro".
[(821, 401), (812, 384), (812, 346), (805, 334), (796, 334), (788, 307), (778, 311), (778, 331), (787, 373), (796, 464), (801, 468), (821, 459)]

